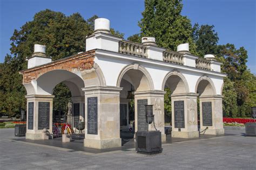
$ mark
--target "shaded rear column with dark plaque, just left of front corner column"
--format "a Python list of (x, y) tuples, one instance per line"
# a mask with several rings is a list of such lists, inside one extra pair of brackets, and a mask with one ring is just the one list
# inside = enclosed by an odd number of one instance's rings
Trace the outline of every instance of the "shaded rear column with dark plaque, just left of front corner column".
[[(81, 119), (84, 122), (84, 96), (71, 97), (72, 100), (72, 116), (73, 116), (73, 128), (76, 129), (76, 124)], [(78, 113), (79, 112), (79, 113)]]

